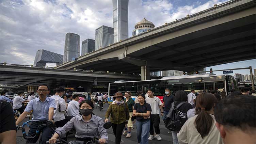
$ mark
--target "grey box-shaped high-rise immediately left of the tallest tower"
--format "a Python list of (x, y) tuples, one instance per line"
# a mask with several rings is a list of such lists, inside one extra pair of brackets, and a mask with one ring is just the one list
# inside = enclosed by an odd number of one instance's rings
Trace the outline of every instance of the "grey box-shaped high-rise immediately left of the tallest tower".
[(114, 29), (107, 26), (101, 26), (95, 30), (95, 50), (104, 48), (113, 44)]

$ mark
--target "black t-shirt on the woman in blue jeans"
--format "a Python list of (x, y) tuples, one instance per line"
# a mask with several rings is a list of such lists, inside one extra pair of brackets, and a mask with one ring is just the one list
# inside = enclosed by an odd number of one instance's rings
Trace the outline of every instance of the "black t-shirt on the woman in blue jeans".
[[(144, 103), (143, 105), (140, 105), (140, 103), (135, 103), (133, 110), (136, 110), (138, 113), (147, 113), (147, 111), (152, 111), (150, 105), (148, 103)], [(149, 121), (150, 118), (144, 119), (143, 116), (137, 116), (137, 121), (144, 122)]]

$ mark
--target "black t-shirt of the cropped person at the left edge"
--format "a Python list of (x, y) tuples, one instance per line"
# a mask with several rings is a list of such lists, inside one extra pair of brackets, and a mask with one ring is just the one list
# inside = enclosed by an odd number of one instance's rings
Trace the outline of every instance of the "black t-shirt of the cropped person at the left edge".
[(17, 130), (13, 109), (9, 102), (0, 100), (0, 133), (9, 130)]

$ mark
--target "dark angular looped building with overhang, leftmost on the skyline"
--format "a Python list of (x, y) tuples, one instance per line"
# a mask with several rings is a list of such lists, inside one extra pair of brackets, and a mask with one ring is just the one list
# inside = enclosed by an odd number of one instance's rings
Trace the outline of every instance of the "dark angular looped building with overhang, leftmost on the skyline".
[(48, 50), (39, 49), (36, 51), (34, 66), (45, 67), (47, 63), (56, 63), (56, 65), (62, 64), (63, 55), (50, 52)]

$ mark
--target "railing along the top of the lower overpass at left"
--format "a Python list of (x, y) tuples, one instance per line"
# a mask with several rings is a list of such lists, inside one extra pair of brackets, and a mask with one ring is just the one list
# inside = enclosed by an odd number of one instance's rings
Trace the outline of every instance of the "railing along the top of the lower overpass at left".
[[(116, 74), (116, 75), (129, 75), (129, 76), (140, 76), (140, 74), (123, 74), (122, 72), (111, 72), (111, 71), (98, 71), (98, 70), (85, 70), (85, 69), (66, 69), (66, 68), (57, 68), (57, 67), (38, 67), (34, 65), (21, 65), (21, 64), (9, 64), (9, 63), (0, 63), (0, 65), (7, 65), (7, 66), (14, 66), (14, 67), (32, 67), (32, 68), (41, 68), (41, 69), (58, 69), (58, 70), (68, 70), (68, 71), (82, 71), (82, 72), (89, 72), (89, 73), (104, 73), (104, 74)], [(153, 76), (153, 77), (158, 77), (161, 78), (160, 76)]]

